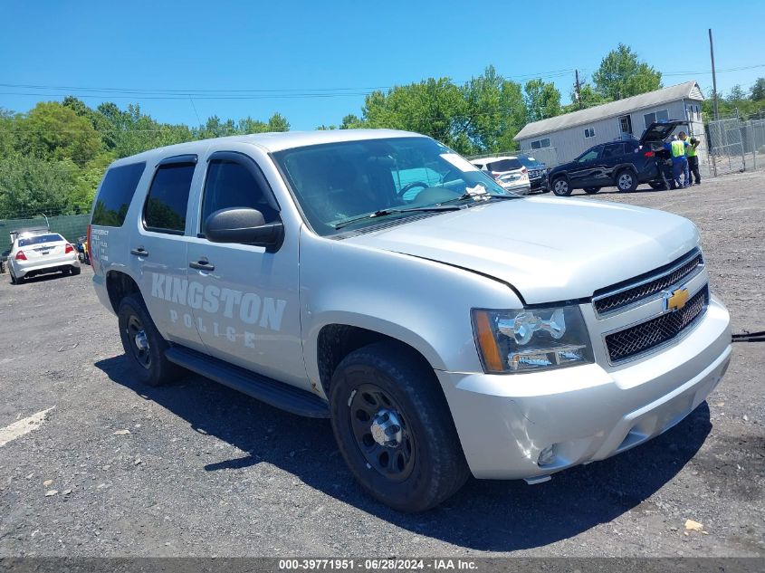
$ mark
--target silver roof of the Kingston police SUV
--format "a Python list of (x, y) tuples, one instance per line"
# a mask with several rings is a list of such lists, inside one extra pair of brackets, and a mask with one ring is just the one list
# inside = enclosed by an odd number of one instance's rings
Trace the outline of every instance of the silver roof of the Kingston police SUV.
[(381, 138), (415, 138), (425, 137), (411, 131), (399, 131), (397, 129), (317, 129), (315, 131), (281, 131), (275, 133), (253, 133), (251, 135), (234, 135), (225, 138), (198, 139), (187, 143), (178, 143), (164, 148), (155, 148), (144, 151), (129, 158), (120, 158), (112, 166), (116, 167), (124, 163), (132, 163), (136, 160), (150, 160), (155, 156), (197, 154), (202, 155), (213, 142), (249, 143), (272, 153), (283, 149), (302, 148), (321, 143), (339, 143), (343, 141), (358, 141), (360, 139)]

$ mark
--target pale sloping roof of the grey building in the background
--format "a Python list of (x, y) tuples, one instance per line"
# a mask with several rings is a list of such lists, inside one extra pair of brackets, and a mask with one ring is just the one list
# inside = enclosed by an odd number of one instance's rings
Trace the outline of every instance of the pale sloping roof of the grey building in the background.
[(542, 119), (527, 123), (513, 138), (515, 141), (533, 138), (536, 136), (552, 133), (561, 129), (576, 128), (580, 125), (592, 123), (600, 119), (608, 119), (620, 115), (626, 115), (636, 110), (651, 108), (663, 103), (677, 100), (703, 101), (703, 93), (699, 84), (695, 81), (678, 83), (661, 90), (648, 91), (640, 95), (625, 98), (624, 100), (610, 101), (587, 110), (572, 111), (550, 119)]

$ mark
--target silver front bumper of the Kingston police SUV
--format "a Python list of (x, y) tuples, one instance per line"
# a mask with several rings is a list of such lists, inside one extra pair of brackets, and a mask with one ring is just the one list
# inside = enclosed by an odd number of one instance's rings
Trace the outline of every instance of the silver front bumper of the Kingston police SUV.
[[(693, 331), (625, 368), (520, 375), (436, 371), (473, 475), (534, 478), (603, 460), (662, 434), (699, 406), (731, 358), (728, 311), (712, 297)], [(550, 463), (537, 463), (555, 444)]]

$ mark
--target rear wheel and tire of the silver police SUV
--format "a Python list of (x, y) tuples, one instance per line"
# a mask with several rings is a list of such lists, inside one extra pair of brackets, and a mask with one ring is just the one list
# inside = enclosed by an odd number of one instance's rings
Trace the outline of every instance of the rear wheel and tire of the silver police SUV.
[(117, 317), (122, 348), (139, 381), (160, 386), (176, 378), (180, 368), (165, 358), (167, 340), (159, 334), (139, 296), (131, 294), (122, 299)]

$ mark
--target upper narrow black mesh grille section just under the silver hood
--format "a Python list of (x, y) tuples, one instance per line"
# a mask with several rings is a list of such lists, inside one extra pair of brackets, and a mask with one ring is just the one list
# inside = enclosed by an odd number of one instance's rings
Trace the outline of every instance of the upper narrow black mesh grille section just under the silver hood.
[[(694, 249), (691, 253), (681, 257), (674, 263), (670, 263), (661, 269), (648, 273), (636, 279), (630, 280), (619, 288), (607, 287), (596, 291), (592, 304), (599, 315), (608, 314), (620, 310), (637, 301), (647, 299), (665, 289), (690, 279), (703, 267), (702, 253)], [(598, 295), (598, 292), (602, 294)]]

